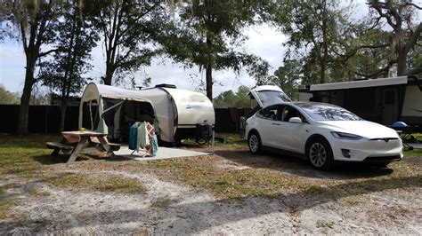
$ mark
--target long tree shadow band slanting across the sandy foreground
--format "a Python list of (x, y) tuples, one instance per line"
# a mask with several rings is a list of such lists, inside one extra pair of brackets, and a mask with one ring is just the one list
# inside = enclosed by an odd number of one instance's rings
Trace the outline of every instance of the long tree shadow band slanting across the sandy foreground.
[[(163, 207), (166, 210), (156, 208), (154, 213), (151, 212), (150, 208), (110, 208), (110, 210), (104, 211), (90, 208), (79, 213), (72, 213), (72, 219), (69, 219), (68, 214), (62, 217), (53, 216), (54, 220), (49, 218), (37, 220), (47, 222), (47, 224), (54, 224), (56, 229), (60, 231), (71, 230), (77, 227), (96, 227), (101, 229), (101, 226), (128, 223), (152, 224), (165, 227), (168, 225), (160, 224), (170, 222), (172, 223), (171, 228), (173, 232), (176, 232), (176, 229), (183, 228), (183, 233), (192, 234), (204, 232), (215, 226), (253, 219), (258, 216), (279, 212), (288, 214), (292, 208), (295, 208), (297, 212), (301, 212), (345, 197), (410, 187), (422, 187), (422, 176), (369, 179), (332, 185), (329, 188), (312, 186), (297, 193), (268, 194), (260, 199), (245, 197), (225, 199), (223, 201), (184, 201), (185, 203), (182, 204), (179, 202)], [(247, 201), (250, 201), (249, 204), (245, 204)], [(155, 214), (155, 216), (148, 217), (150, 214)], [(69, 222), (72, 222), (72, 224)], [(31, 227), (32, 225), (37, 225), (37, 222), (4, 223), (2, 228), (10, 229), (18, 224)], [(48, 226), (53, 228), (53, 225)], [(160, 230), (159, 227), (155, 229)]]

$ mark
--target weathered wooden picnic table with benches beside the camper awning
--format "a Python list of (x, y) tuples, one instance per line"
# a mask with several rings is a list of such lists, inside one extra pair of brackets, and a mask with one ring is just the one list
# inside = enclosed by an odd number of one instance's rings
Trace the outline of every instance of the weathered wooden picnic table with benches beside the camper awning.
[(99, 133), (91, 130), (85, 131), (64, 131), (61, 132), (62, 138), (60, 143), (48, 142), (47, 147), (53, 149), (52, 155), (57, 155), (60, 152), (69, 154), (70, 157), (67, 163), (71, 163), (77, 159), (77, 155), (88, 148), (95, 148), (97, 151), (105, 151), (111, 157), (114, 156), (113, 147), (120, 147), (118, 145), (111, 145), (107, 141), (107, 134)]

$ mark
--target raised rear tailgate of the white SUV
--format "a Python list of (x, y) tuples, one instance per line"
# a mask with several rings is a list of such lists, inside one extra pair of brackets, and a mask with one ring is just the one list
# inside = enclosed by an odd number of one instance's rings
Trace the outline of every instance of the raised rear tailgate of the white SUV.
[(258, 106), (264, 107), (280, 102), (291, 102), (286, 93), (275, 85), (262, 85), (249, 90), (248, 97), (256, 99)]

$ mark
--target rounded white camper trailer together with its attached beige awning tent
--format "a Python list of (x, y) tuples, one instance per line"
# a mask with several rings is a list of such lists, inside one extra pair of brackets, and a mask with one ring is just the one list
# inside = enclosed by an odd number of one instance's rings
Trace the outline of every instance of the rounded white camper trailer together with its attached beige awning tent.
[(195, 137), (197, 123), (215, 124), (214, 106), (207, 96), (167, 84), (127, 90), (89, 83), (79, 109), (79, 128), (97, 130), (103, 117), (109, 137), (119, 140), (126, 140), (133, 122), (154, 123), (158, 138), (171, 144)]

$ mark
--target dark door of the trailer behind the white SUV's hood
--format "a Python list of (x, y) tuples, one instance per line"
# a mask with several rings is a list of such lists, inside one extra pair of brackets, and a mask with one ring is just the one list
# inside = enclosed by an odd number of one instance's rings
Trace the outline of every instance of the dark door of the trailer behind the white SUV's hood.
[(399, 96), (397, 89), (383, 90), (383, 124), (393, 124), (399, 115)]

